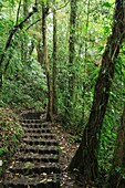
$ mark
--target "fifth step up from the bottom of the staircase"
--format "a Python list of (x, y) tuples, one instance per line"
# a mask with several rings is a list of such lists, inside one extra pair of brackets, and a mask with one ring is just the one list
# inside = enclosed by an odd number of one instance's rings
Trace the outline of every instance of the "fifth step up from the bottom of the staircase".
[[(43, 139), (43, 138), (23, 138), (23, 142), (28, 145), (46, 145), (46, 146), (58, 146), (55, 139)], [(35, 146), (34, 146), (35, 147)]]

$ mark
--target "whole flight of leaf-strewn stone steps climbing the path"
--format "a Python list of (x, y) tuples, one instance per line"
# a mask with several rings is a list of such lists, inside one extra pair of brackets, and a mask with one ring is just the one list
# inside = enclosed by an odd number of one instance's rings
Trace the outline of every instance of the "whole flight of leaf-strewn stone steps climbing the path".
[(40, 113), (22, 115), (22, 142), (3, 177), (3, 188), (60, 188), (59, 145)]

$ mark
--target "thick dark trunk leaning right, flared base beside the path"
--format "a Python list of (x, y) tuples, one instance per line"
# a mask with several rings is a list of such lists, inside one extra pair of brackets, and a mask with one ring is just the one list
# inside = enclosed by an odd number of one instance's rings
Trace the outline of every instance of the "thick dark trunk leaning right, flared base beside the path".
[(124, 0), (116, 0), (115, 2), (114, 23), (102, 58), (102, 67), (94, 90), (90, 118), (80, 147), (69, 166), (71, 171), (77, 168), (86, 181), (96, 180), (98, 176), (98, 137), (114, 77), (116, 59), (125, 36), (124, 2)]

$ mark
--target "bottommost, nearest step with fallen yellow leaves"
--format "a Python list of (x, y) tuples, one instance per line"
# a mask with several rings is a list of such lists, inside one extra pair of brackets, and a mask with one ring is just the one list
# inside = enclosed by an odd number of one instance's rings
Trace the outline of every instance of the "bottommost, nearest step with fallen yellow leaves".
[(8, 174), (3, 181), (4, 188), (60, 188), (59, 174), (33, 174), (22, 176), (20, 174)]

